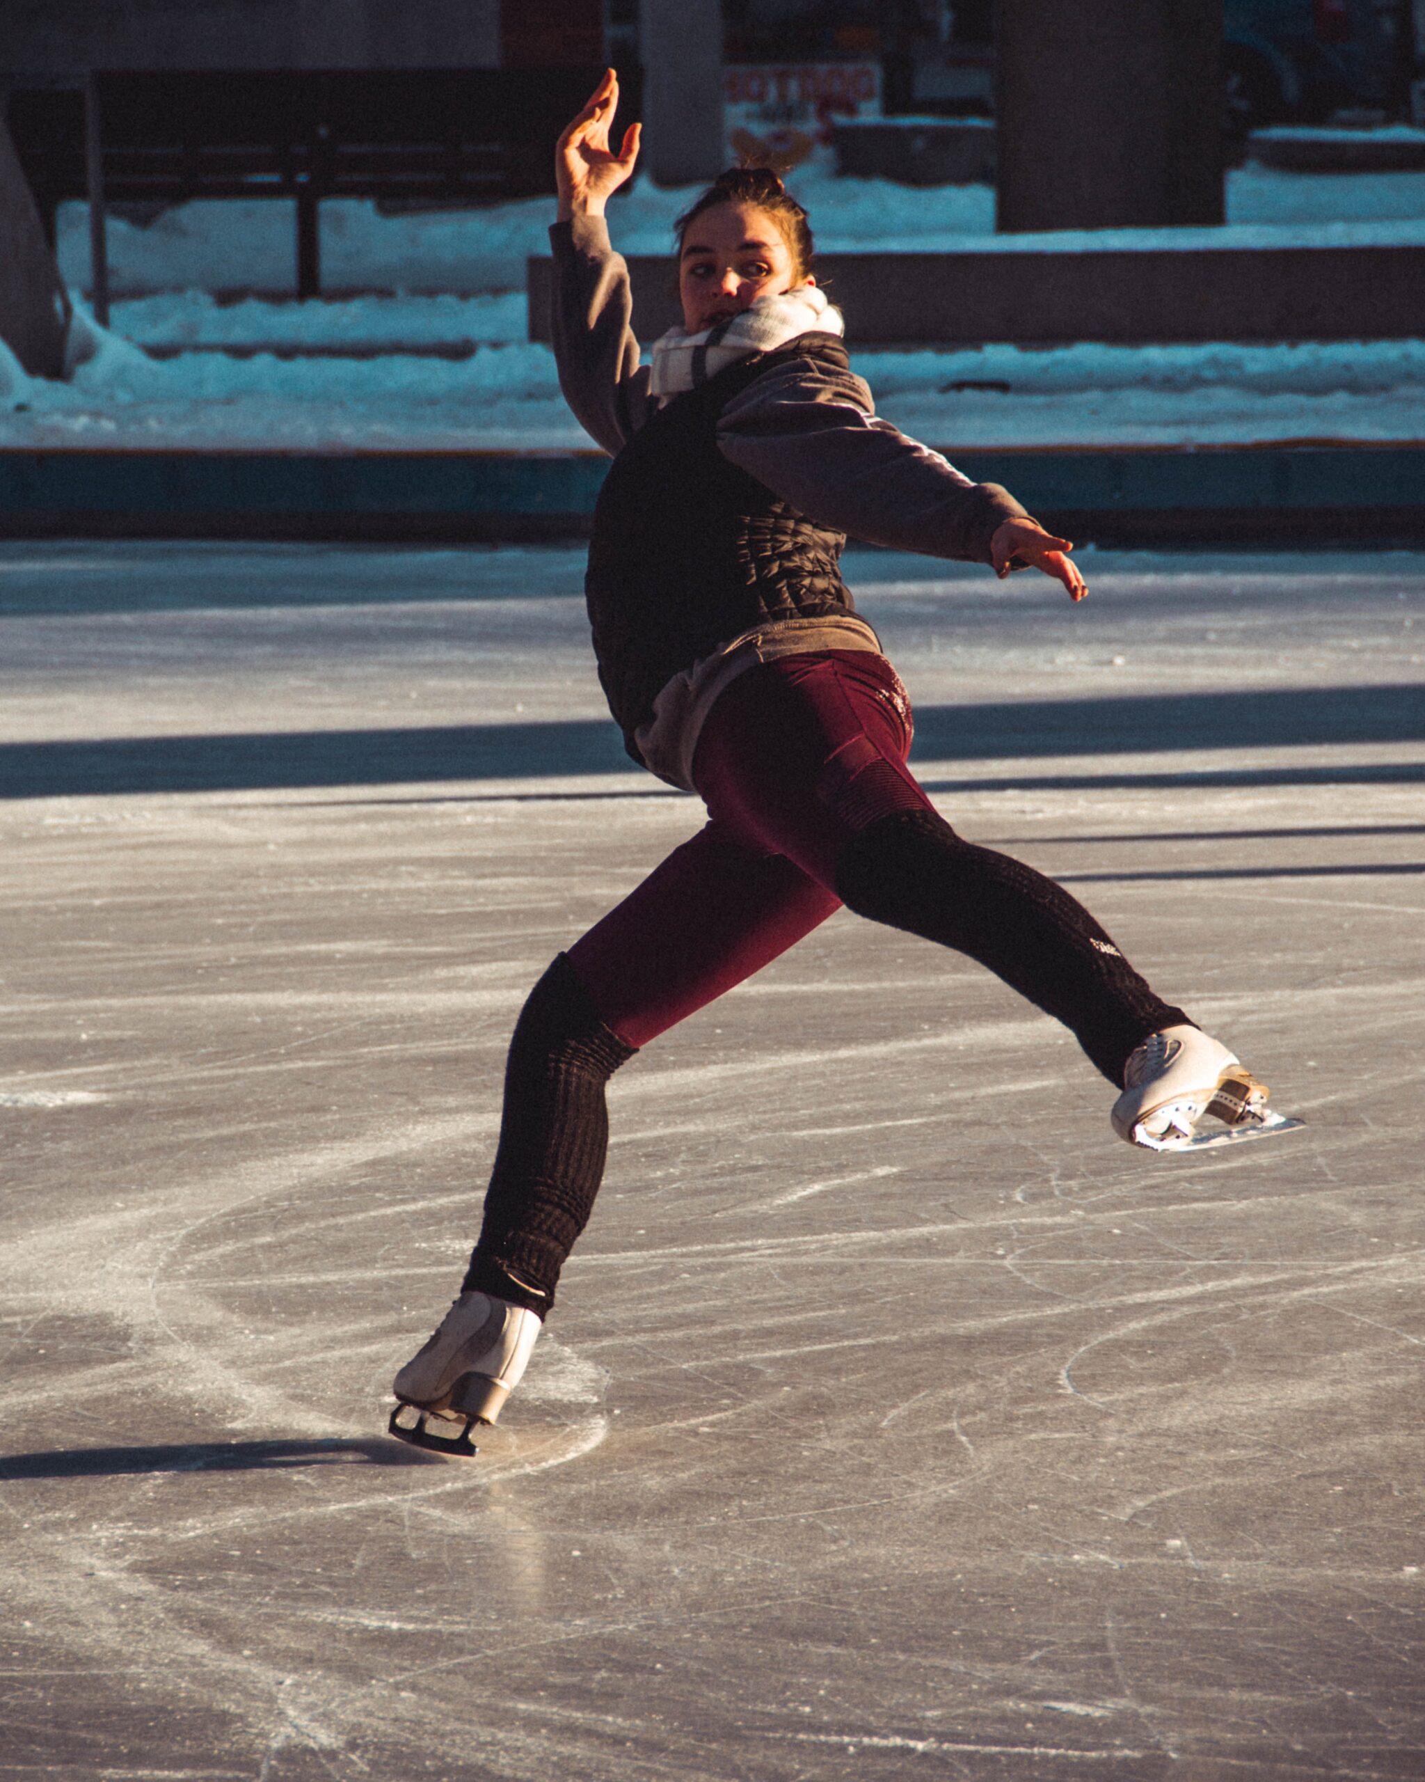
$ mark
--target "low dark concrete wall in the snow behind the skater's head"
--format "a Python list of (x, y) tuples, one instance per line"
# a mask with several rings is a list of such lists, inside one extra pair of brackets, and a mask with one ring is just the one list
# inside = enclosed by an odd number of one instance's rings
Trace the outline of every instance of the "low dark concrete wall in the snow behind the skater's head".
[[(632, 255), (634, 314), (680, 324), (664, 255)], [(1409, 340), (1425, 333), (1425, 246), (819, 253), (857, 347)], [(529, 339), (550, 340), (554, 262), (525, 269)]]

